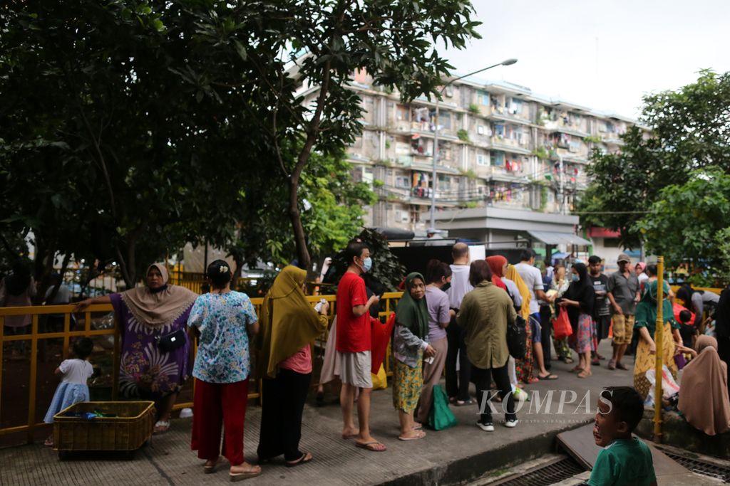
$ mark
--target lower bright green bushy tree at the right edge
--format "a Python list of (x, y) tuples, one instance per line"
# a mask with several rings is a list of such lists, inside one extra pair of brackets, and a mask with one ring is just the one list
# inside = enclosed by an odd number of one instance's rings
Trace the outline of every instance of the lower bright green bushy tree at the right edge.
[(647, 248), (664, 255), (670, 267), (685, 260), (721, 267), (722, 235), (730, 229), (730, 174), (718, 168), (692, 171), (685, 184), (661, 189), (637, 227)]

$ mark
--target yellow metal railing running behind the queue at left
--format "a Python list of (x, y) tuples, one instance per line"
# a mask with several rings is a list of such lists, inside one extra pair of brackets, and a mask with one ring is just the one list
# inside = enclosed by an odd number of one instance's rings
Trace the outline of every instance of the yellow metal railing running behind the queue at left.
[[(388, 316), (395, 310), (395, 304), (397, 300), (401, 297), (401, 292), (390, 292), (383, 295), (383, 298), (381, 299), (381, 310), (380, 310), (380, 317), (381, 318), (388, 318)], [(337, 297), (334, 295), (323, 295), (323, 296), (308, 296), (307, 299), (314, 305), (316, 302), (319, 302), (320, 299), (326, 299), (328, 302), (330, 302), (330, 310), (329, 310), (329, 321), (331, 322), (334, 318), (334, 314), (337, 309)], [(251, 299), (251, 302), (253, 303), (256, 313), (258, 314), (259, 307), (261, 306), (261, 302), (263, 301), (262, 298), (253, 298)], [(13, 433), (22, 433), (26, 432), (27, 434), (27, 442), (32, 442), (33, 440), (33, 434), (34, 430), (40, 426), (44, 426), (44, 423), (37, 422), (37, 388), (38, 388), (38, 364), (39, 364), (39, 345), (44, 343), (45, 340), (63, 340), (63, 347), (62, 347), (62, 357), (58, 360), (58, 363), (61, 362), (61, 360), (68, 358), (69, 355), (69, 344), (71, 342), (71, 339), (73, 337), (99, 337), (99, 336), (112, 336), (113, 337), (113, 346), (112, 346), (112, 400), (117, 399), (118, 395), (118, 384), (119, 384), (119, 367), (120, 367), (120, 356), (121, 356), (121, 340), (120, 340), (120, 328), (118, 326), (117, 319), (114, 319), (114, 326), (112, 326), (110, 329), (93, 329), (92, 326), (92, 315), (96, 314), (99, 315), (99, 313), (111, 313), (113, 312), (112, 306), (110, 304), (101, 304), (101, 305), (91, 305), (87, 307), (83, 312), (81, 313), (75, 313), (73, 312), (74, 305), (42, 305), (42, 306), (28, 306), (28, 307), (4, 307), (0, 308), (0, 364), (4, 364), (2, 369), (0, 369), (0, 420), (3, 422), (12, 422), (15, 421), (16, 423), (18, 420), (16, 420), (18, 417), (13, 417), (13, 420), (9, 420), (4, 417), (3, 415), (3, 407), (5, 404), (4, 400), (9, 399), (16, 399), (20, 398), (20, 395), (15, 395), (16, 391), (12, 390), (6, 390), (6, 393), (3, 393), (4, 391), (4, 372), (12, 372), (12, 361), (9, 361), (6, 356), (3, 355), (5, 343), (12, 343), (12, 342), (30, 342), (30, 367), (29, 367), (29, 375), (28, 375), (28, 410), (27, 410), (27, 417), (26, 419), (22, 420), (25, 423), (21, 423), (20, 425), (16, 424), (14, 426), (9, 427), (1, 427), (0, 426), (0, 436), (4, 436), (7, 434), (13, 434)], [(10, 316), (23, 316), (23, 315), (30, 315), (31, 316), (31, 325), (29, 327), (29, 332), (26, 332), (25, 334), (15, 334), (15, 335), (6, 335), (4, 330), (7, 329), (4, 326), (5, 318)], [(40, 324), (42, 322), (45, 322), (48, 316), (50, 315), (63, 315), (64, 318), (64, 326), (63, 330), (59, 332), (43, 332), (46, 329), (40, 329)], [(72, 322), (72, 315), (77, 315), (79, 317), (83, 318), (83, 326), (82, 329), (78, 330), (71, 330), (71, 322)], [(77, 326), (78, 327), (78, 326)], [(327, 341), (328, 337), (328, 330), (325, 331), (320, 337), (315, 339), (315, 342), (312, 342), (312, 346), (315, 345), (316, 342), (319, 342), (320, 347), (323, 349), (324, 345)], [(193, 346), (193, 356), (195, 353), (195, 346)], [(58, 364), (54, 364), (54, 367), (58, 366)], [(390, 363), (388, 360), (385, 362), (385, 369), (388, 375), (391, 375), (390, 372)], [(319, 378), (316, 380), (319, 382)], [(316, 383), (315, 385), (318, 385)], [(7, 388), (7, 387), (6, 387)], [(11, 396), (7, 396), (8, 391), (12, 393)], [(18, 391), (18, 393), (23, 393)], [(193, 393), (194, 393), (194, 380), (193, 380)], [(258, 388), (257, 391), (253, 393), (249, 393), (249, 399), (262, 399), (261, 396), (261, 382), (258, 380)], [(186, 401), (182, 403), (175, 404), (174, 409), (181, 409), (185, 407), (192, 407), (193, 403), (191, 401)]]

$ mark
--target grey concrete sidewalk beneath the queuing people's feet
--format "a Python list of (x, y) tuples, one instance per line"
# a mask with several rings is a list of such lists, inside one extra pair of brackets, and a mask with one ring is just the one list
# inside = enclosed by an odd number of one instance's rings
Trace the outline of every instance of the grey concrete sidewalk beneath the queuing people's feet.
[[(607, 354), (608, 342), (601, 351)], [(630, 358), (629, 358), (630, 359)], [(388, 446), (387, 452), (369, 452), (355, 447), (353, 440), (340, 438), (342, 416), (339, 407), (329, 404), (313, 407), (307, 404), (301, 434), (303, 451), (314, 456), (312, 463), (286, 468), (283, 458), (279, 463), (263, 466), (260, 477), (249, 479), (247, 485), (423, 485), (453, 484), (475, 479), (485, 471), (531, 460), (553, 450), (559, 431), (575, 428), (593, 419), (597, 393), (607, 385), (631, 385), (631, 371), (609, 371), (593, 368), (593, 376), (582, 380), (569, 372), (574, 365), (553, 361), (553, 372), (558, 380), (542, 381), (526, 387), (529, 393), (541, 396), (553, 390), (550, 413), (535, 413), (535, 402), (524, 404), (518, 412), (520, 423), (516, 428), (505, 428), (499, 423), (503, 416), (495, 416), (496, 430), (483, 432), (475, 426), (477, 407), (453, 407), (458, 426), (446, 431), (428, 431), (425, 439), (401, 442), (398, 436), (398, 418), (393, 409), (391, 389), (375, 391), (372, 401), (372, 434)], [(627, 361), (627, 364), (631, 361)], [(566, 404), (563, 413), (556, 409), (561, 392), (566, 399), (575, 391), (577, 399)], [(585, 393), (591, 392), (591, 413), (585, 406), (575, 411)], [(532, 412), (529, 410), (533, 404)], [(498, 404), (499, 405), (499, 404)], [(249, 407), (245, 429), (245, 455), (255, 463), (261, 409)], [(81, 456), (72, 460), (58, 460), (53, 450), (40, 444), (0, 450), (0, 485), (199, 485), (227, 484), (228, 467), (222, 466), (215, 474), (203, 474), (202, 460), (190, 450), (191, 420), (173, 420), (167, 434), (155, 436), (147, 447), (137, 452), (132, 460), (102, 455)]]

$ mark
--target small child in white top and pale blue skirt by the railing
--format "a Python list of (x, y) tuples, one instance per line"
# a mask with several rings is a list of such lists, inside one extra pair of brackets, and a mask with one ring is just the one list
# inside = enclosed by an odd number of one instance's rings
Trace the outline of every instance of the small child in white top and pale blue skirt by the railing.
[[(63, 375), (61, 383), (53, 393), (48, 412), (43, 419), (45, 423), (53, 423), (53, 415), (66, 407), (71, 407), (80, 401), (89, 400), (89, 387), (86, 380), (93, 375), (93, 367), (87, 361), (93, 350), (93, 342), (88, 337), (82, 337), (74, 342), (75, 359), (66, 359), (55, 369), (56, 375)], [(53, 446), (53, 434), (50, 434), (45, 445)]]

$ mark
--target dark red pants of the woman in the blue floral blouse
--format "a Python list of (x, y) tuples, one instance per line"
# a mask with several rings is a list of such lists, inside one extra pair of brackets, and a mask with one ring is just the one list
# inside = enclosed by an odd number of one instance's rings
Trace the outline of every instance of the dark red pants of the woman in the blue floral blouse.
[(243, 423), (248, 401), (248, 379), (236, 383), (195, 380), (193, 440), (191, 449), (205, 460), (220, 455), (223, 425), (223, 457), (233, 466), (243, 463)]

